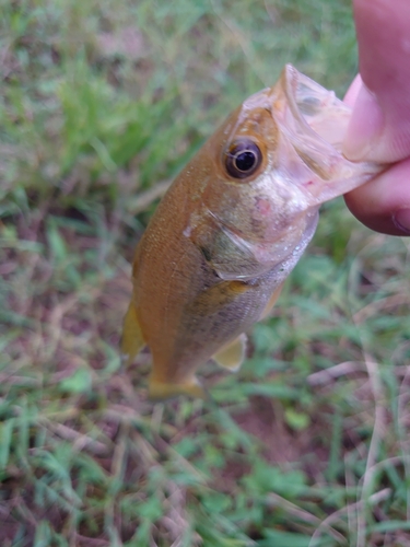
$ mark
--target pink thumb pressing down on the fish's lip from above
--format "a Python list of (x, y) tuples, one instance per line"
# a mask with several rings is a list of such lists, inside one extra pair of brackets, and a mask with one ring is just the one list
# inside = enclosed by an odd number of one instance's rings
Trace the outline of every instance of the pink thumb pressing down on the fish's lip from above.
[(354, 0), (359, 86), (343, 143), (350, 160), (410, 155), (410, 2)]

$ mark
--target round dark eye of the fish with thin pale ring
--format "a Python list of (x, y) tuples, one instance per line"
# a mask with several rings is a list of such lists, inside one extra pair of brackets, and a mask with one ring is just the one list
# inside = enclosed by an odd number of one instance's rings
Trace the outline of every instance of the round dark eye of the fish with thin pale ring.
[(235, 141), (225, 153), (226, 171), (234, 178), (247, 178), (253, 175), (261, 161), (262, 153), (250, 139)]

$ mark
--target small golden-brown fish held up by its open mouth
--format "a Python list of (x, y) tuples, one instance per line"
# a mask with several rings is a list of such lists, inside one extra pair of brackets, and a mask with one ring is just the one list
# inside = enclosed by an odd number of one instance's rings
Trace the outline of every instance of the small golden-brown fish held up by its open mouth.
[(148, 346), (149, 397), (207, 397), (209, 360), (241, 368), (311, 242), (323, 202), (384, 166), (342, 154), (351, 108), (286, 65), (239, 105), (176, 177), (142, 235), (121, 352)]

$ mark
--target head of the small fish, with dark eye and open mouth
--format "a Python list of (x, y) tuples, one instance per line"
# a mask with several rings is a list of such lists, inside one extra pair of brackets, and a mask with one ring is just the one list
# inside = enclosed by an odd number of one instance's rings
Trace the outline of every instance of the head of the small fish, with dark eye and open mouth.
[(320, 203), (379, 171), (343, 156), (350, 116), (333, 92), (286, 66), (207, 142), (207, 210), (246, 241), (292, 246)]

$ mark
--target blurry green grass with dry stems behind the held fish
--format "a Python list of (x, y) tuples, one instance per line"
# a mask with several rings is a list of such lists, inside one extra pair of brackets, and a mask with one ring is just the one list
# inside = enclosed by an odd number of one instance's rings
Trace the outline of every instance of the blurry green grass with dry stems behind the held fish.
[(130, 259), (219, 120), (284, 62), (339, 94), (347, 1), (1, 2), (1, 545), (410, 545), (409, 243), (328, 203), (238, 375), (147, 400)]

